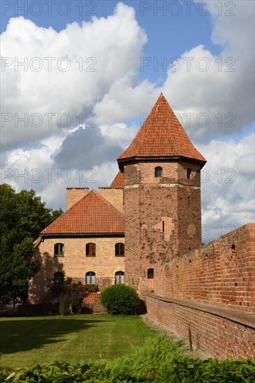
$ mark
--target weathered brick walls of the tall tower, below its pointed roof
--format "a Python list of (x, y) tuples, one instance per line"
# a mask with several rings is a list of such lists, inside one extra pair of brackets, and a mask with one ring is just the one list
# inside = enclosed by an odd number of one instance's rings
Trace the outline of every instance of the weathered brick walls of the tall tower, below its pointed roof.
[[(155, 177), (156, 166), (162, 177)], [(148, 269), (201, 244), (200, 167), (140, 162), (124, 166), (124, 180), (126, 281), (145, 297)]]

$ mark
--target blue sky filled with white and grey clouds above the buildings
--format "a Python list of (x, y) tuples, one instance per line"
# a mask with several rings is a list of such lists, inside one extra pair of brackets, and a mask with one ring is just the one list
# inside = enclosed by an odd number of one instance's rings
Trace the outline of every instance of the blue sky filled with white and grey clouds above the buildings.
[(108, 187), (163, 92), (201, 171), (202, 241), (254, 221), (254, 1), (1, 1), (1, 182), (65, 210)]

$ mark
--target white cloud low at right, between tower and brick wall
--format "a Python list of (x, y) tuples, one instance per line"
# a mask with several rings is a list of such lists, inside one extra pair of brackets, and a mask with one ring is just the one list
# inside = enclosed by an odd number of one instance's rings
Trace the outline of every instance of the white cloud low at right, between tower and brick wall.
[(254, 134), (240, 141), (213, 140), (197, 148), (208, 162), (201, 170), (204, 241), (254, 221)]

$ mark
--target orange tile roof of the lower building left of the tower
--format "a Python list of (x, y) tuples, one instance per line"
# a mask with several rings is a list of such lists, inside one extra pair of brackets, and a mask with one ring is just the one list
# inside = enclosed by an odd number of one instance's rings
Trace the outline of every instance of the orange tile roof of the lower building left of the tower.
[(42, 230), (47, 234), (124, 233), (123, 215), (92, 190)]

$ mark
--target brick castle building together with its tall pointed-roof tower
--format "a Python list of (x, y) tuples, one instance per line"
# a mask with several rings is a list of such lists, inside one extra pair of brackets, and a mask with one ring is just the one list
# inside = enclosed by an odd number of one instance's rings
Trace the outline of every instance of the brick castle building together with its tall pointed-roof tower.
[(31, 281), (30, 302), (42, 302), (52, 284), (67, 279), (100, 289), (125, 282), (145, 297), (155, 267), (200, 247), (206, 159), (162, 94), (117, 162), (110, 187), (67, 189), (67, 212), (35, 244), (42, 267)]

